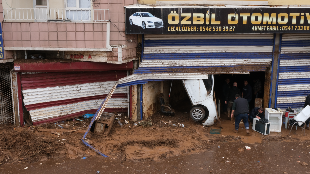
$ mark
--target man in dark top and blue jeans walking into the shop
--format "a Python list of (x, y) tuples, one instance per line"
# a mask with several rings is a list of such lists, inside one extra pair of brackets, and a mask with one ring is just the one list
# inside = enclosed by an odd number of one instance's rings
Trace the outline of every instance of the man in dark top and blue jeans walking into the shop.
[(238, 133), (239, 129), (239, 124), (240, 121), (243, 120), (244, 126), (246, 127), (246, 133), (250, 134), (249, 132), (249, 103), (245, 98), (241, 98), (239, 94), (235, 95), (235, 100), (233, 101), (232, 104), (232, 114), (230, 115), (233, 117), (234, 112), (235, 112), (235, 130), (232, 130), (234, 133)]

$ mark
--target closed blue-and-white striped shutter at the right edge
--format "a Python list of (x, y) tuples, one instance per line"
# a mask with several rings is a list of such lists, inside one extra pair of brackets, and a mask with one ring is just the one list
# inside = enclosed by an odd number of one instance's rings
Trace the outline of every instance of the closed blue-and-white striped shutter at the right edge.
[(303, 107), (310, 93), (310, 34), (283, 34), (277, 107)]

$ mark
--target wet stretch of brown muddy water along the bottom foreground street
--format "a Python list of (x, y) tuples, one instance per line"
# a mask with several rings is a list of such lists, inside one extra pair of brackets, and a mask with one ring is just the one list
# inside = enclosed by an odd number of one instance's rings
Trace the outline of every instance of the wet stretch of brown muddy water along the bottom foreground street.
[[(87, 159), (48, 159), (34, 163), (4, 164), (0, 173), (219, 173), (219, 174), (277, 174), (310, 173), (310, 143), (306, 142), (266, 142), (247, 144), (239, 141), (224, 141), (212, 146), (209, 151), (155, 161), (123, 161), (122, 157), (104, 158), (99, 155)], [(246, 150), (245, 146), (251, 146)], [(239, 152), (237, 148), (244, 151)], [(259, 161), (259, 162), (258, 162)], [(40, 165), (40, 163), (42, 163)], [(56, 164), (57, 163), (57, 164)], [(24, 169), (28, 167), (27, 169)], [(128, 167), (128, 168), (127, 168)]]

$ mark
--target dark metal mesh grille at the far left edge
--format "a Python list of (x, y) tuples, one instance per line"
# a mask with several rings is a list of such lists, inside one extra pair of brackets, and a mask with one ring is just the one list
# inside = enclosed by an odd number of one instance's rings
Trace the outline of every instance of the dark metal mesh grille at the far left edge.
[(0, 63), (0, 124), (14, 124), (9, 63)]

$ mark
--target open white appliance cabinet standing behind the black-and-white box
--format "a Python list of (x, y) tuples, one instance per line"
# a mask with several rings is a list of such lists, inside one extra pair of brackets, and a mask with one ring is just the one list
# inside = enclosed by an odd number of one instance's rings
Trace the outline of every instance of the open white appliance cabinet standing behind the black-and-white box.
[(270, 122), (270, 132), (281, 132), (283, 112), (279, 108), (278, 110), (272, 108), (265, 109), (265, 118)]

